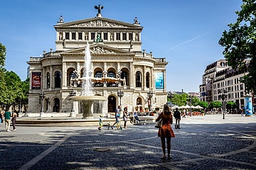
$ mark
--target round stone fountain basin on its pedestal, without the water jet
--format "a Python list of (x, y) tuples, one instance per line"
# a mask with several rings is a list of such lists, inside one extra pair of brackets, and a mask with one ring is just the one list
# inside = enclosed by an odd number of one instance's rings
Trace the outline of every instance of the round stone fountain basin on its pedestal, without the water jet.
[(82, 118), (90, 118), (93, 115), (92, 104), (95, 101), (107, 101), (107, 98), (105, 96), (72, 96), (68, 100), (80, 101), (83, 108)]

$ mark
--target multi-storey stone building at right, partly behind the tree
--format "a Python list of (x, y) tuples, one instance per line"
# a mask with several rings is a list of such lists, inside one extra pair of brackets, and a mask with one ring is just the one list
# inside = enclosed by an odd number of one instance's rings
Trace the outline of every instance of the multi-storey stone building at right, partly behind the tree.
[[(248, 64), (249, 60), (247, 61)], [(220, 91), (227, 91), (227, 101), (237, 104), (238, 111), (245, 107), (245, 96), (252, 94), (245, 93), (245, 84), (240, 79), (247, 74), (247, 69), (232, 69), (226, 60), (218, 60), (209, 64), (203, 74), (202, 84), (199, 86), (201, 101), (211, 103), (220, 101)], [(256, 100), (252, 100), (253, 107), (256, 108)]]

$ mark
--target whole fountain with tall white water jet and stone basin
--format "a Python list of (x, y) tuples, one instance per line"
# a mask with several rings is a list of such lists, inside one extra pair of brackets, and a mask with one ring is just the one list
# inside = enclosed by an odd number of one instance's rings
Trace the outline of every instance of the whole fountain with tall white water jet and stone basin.
[(90, 45), (87, 42), (85, 49), (85, 69), (82, 75), (82, 87), (83, 91), (80, 96), (71, 96), (68, 100), (80, 101), (83, 108), (82, 118), (88, 118), (93, 115), (92, 104), (95, 101), (107, 101), (105, 96), (93, 96), (91, 87), (91, 55), (90, 55)]

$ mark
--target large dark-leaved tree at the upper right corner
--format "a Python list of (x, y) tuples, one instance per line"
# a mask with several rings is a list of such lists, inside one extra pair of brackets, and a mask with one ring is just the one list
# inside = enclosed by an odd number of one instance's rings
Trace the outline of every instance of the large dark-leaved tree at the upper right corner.
[[(219, 44), (225, 47), (223, 55), (233, 69), (248, 69), (241, 82), (245, 91), (256, 91), (256, 4), (255, 0), (242, 0), (240, 11), (235, 23), (230, 23), (229, 30), (223, 32)], [(250, 64), (246, 65), (246, 60)]]

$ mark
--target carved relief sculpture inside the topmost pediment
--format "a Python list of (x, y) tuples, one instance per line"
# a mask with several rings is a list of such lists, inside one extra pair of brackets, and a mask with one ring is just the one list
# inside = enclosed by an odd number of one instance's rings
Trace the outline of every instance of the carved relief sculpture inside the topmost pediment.
[(102, 20), (97, 20), (97, 21), (90, 21), (90, 22), (86, 22), (86, 23), (79, 23), (79, 24), (75, 24), (73, 26), (70, 27), (122, 27), (122, 28), (127, 28), (127, 26), (124, 26), (122, 24), (118, 24), (118, 23), (111, 23), (108, 21), (102, 21)]

